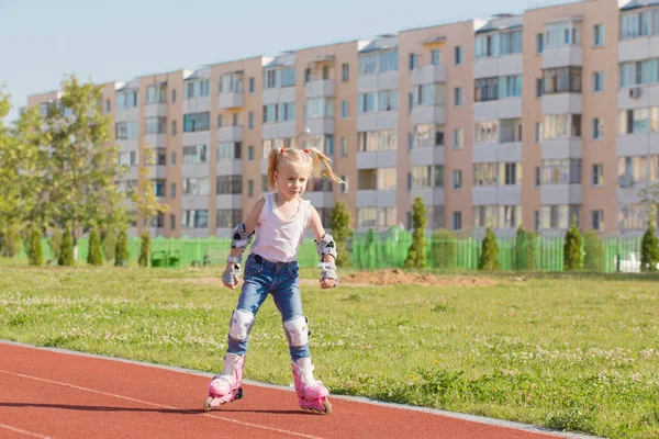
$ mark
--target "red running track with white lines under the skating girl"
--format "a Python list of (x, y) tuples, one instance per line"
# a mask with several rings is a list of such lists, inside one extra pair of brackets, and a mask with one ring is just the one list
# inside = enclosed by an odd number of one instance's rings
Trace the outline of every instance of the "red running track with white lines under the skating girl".
[(0, 342), (0, 438), (559, 437), (332, 396), (330, 416), (310, 414), (292, 391), (254, 384), (244, 385), (243, 399), (206, 413), (208, 382), (202, 374)]

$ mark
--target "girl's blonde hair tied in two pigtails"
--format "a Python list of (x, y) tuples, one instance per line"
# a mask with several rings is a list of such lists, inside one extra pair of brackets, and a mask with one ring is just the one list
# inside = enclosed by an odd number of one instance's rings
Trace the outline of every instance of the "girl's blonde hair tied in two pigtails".
[(272, 148), (268, 154), (268, 190), (272, 192), (277, 190), (275, 171), (282, 165), (310, 166), (311, 178), (327, 178), (347, 187), (347, 183), (332, 170), (331, 161), (330, 157), (317, 148)]

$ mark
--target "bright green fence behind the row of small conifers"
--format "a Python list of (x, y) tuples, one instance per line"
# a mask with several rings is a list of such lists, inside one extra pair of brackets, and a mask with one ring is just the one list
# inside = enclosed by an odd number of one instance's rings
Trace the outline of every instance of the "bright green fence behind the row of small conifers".
[[(389, 230), (356, 233), (348, 243), (350, 263), (356, 269), (402, 268), (405, 264), (412, 234), (393, 227)], [(502, 270), (562, 271), (562, 236), (534, 236), (518, 239), (498, 238), (499, 262)], [(25, 246), (23, 246), (24, 248)], [(44, 260), (55, 264), (55, 255), (47, 239), (42, 244)], [(193, 264), (224, 264), (228, 255), (230, 238), (163, 238), (152, 239), (153, 267), (190, 267)], [(628, 271), (634, 258), (640, 258), (640, 236), (610, 237), (585, 243), (584, 268), (590, 271)], [(457, 237), (428, 234), (426, 237), (426, 264), (433, 269), (476, 270), (481, 252), (481, 240), (473, 236)], [(78, 240), (78, 261), (86, 261), (88, 239)], [(139, 238), (129, 239), (130, 262), (139, 257)], [(210, 257), (212, 256), (212, 257)], [(26, 258), (24, 249), (16, 257)], [(301, 267), (315, 267), (319, 262), (313, 239), (300, 247)]]

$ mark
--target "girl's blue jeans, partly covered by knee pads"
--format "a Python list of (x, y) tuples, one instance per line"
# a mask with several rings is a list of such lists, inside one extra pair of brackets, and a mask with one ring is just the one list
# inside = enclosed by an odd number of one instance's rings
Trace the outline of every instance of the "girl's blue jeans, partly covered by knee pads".
[[(293, 262), (272, 262), (258, 255), (249, 255), (245, 261), (245, 283), (238, 297), (238, 309), (254, 314), (264, 304), (268, 294), (277, 309), (281, 313), (281, 322), (287, 322), (302, 313), (302, 299), (300, 296), (300, 266)], [(247, 351), (249, 336), (244, 341), (235, 341), (228, 337), (230, 353), (244, 356)], [(289, 346), (293, 361), (311, 357), (309, 344), (300, 347)]]

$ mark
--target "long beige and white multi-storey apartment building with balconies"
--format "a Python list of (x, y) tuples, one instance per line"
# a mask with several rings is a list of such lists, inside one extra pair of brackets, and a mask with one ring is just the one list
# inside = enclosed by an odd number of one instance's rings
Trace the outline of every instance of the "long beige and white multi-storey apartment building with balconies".
[(155, 148), (156, 235), (226, 236), (268, 151), (304, 145), (347, 182), (310, 182), (326, 224), (342, 201), (357, 229), (410, 227), (421, 196), (428, 228), (626, 233), (659, 181), (658, 83), (659, 5), (591, 0), (107, 83), (103, 112), (124, 188)]

